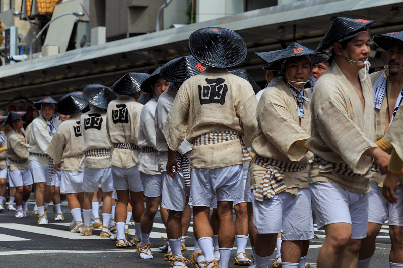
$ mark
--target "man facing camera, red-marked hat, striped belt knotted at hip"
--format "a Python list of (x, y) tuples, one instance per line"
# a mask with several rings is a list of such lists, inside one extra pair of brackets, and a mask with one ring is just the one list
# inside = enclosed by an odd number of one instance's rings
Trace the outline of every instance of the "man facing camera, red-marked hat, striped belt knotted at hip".
[(268, 70), (281, 69), (284, 78), (267, 87), (256, 111), (258, 132), (252, 143), (256, 155), (250, 171), (257, 268), (267, 266), (278, 233), (282, 267), (305, 267), (314, 232), (307, 181), (308, 160), (313, 154), (306, 147), (311, 94), (303, 86), (309, 81), (312, 63), (328, 57), (294, 42), (265, 66)]

